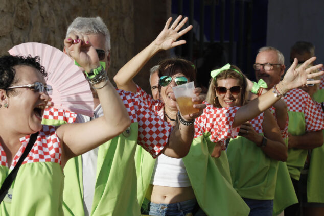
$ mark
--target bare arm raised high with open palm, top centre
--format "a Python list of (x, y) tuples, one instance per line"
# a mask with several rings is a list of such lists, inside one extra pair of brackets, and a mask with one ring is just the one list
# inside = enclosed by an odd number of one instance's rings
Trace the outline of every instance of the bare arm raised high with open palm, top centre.
[(118, 71), (113, 80), (119, 89), (136, 93), (136, 84), (132, 79), (138, 72), (140, 72), (148, 60), (150, 60), (161, 50), (169, 50), (173, 47), (186, 43), (186, 40), (177, 41), (177, 39), (190, 31), (192, 26), (190, 25), (180, 31), (184, 23), (188, 21), (187, 17), (180, 22), (181, 19), (182, 16), (178, 16), (178, 18), (170, 26), (172, 21), (172, 18), (170, 17), (166, 22), (164, 29), (160, 32), (157, 38)]

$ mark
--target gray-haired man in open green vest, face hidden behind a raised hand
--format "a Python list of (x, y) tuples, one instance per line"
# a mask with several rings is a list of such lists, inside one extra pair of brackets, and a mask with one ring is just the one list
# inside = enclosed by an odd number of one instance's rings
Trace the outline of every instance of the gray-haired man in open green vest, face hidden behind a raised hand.
[[(93, 46), (101, 65), (96, 70), (102, 71), (103, 67), (107, 70), (110, 66), (110, 34), (100, 17), (76, 18), (68, 27), (65, 41), (81, 43), (81, 50)], [(69, 54), (65, 47), (64, 52)], [(95, 74), (95, 71), (88, 73)], [(193, 140), (193, 124), (183, 125), (179, 121), (172, 129), (169, 123), (149, 109), (139, 95), (123, 90), (118, 90), (118, 93), (127, 108), (131, 125), (119, 136), (66, 163), (64, 215), (140, 216), (134, 163), (136, 144), (153, 158), (161, 153), (179, 158), (188, 154)], [(202, 98), (199, 101), (201, 104)], [(89, 122), (103, 115), (95, 91), (94, 102), (94, 117), (77, 115), (77, 122)], [(202, 113), (205, 106), (201, 105), (201, 112), (193, 117), (186, 115), (186, 121), (193, 121)]]

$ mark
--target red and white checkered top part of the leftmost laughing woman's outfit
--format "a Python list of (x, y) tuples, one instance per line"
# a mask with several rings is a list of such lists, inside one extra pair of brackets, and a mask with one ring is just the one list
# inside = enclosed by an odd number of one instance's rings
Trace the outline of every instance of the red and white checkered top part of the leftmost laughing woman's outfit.
[[(30, 135), (20, 138), (21, 147), (13, 158), (10, 170), (12, 170), (17, 164), (20, 156), (25, 151), (28, 144)], [(8, 167), (6, 153), (0, 143), (0, 164), (2, 166)], [(37, 139), (33, 148), (30, 150), (29, 154), (25, 158), (25, 163), (34, 162), (54, 162), (61, 165), (61, 155), (62, 150), (60, 146), (59, 138), (57, 137), (55, 127), (43, 125), (42, 129), (39, 131)]]

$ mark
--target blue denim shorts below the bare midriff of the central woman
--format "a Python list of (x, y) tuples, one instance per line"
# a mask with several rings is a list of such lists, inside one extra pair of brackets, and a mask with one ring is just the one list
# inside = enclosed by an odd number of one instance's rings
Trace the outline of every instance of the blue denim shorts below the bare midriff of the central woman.
[(206, 214), (199, 208), (196, 199), (187, 200), (172, 204), (157, 204), (144, 199), (141, 213), (152, 216), (205, 216)]

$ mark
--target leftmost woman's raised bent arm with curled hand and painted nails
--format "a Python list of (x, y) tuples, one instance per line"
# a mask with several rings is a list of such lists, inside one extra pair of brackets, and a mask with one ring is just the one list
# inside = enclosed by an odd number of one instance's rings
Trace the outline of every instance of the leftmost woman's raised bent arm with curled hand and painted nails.
[[(97, 52), (87, 36), (78, 35), (78, 38), (71, 34), (64, 40), (70, 56), (87, 72), (100, 67)], [(74, 40), (76, 43), (73, 42)], [(83, 41), (82, 45), (81, 41)], [(128, 113), (119, 94), (108, 77), (103, 77), (105, 79), (93, 84), (92, 88), (97, 91), (104, 116), (87, 123), (65, 124), (57, 129), (62, 145), (62, 165), (68, 159), (94, 149), (117, 136), (130, 125)]]

